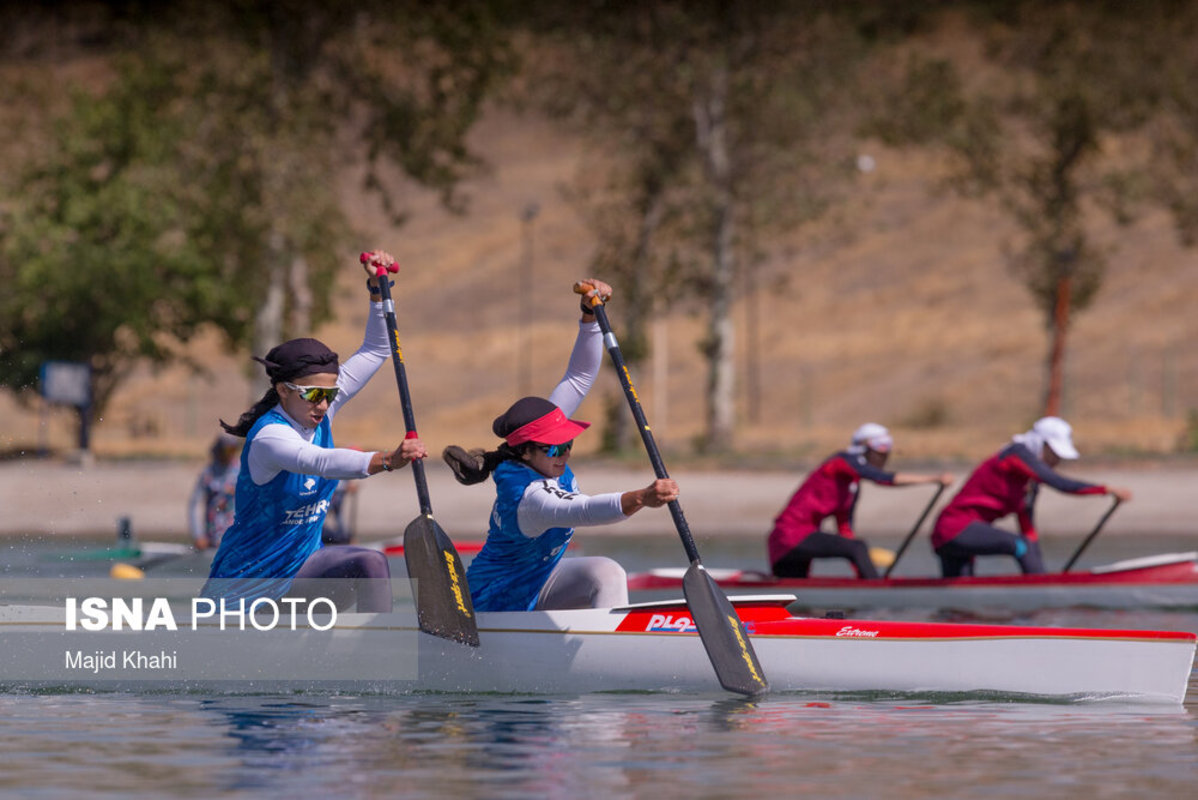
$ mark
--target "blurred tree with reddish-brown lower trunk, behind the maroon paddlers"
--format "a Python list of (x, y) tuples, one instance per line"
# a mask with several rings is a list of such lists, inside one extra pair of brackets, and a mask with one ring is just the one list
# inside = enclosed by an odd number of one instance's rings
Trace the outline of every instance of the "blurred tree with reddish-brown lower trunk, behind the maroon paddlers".
[[(1170, 2), (970, 4), (988, 68), (968, 85), (946, 59), (910, 57), (904, 83), (879, 86), (871, 132), (942, 140), (956, 186), (992, 194), (1022, 238), (1010, 266), (1049, 334), (1042, 410), (1061, 410), (1066, 337), (1102, 284), (1095, 225), (1126, 223), (1143, 181), (1126, 156), (1161, 110), (1161, 37)], [(1103, 219), (1105, 218), (1105, 219)]]

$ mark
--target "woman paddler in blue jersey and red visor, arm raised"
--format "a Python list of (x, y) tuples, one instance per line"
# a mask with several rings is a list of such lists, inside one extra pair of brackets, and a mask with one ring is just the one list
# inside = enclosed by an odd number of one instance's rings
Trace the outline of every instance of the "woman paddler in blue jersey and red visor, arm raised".
[[(606, 299), (607, 284), (587, 279)], [(545, 398), (522, 398), (497, 417), (498, 449), (442, 456), (462, 484), (495, 478), (495, 503), (483, 549), (466, 570), (474, 611), (600, 608), (628, 605), (628, 576), (610, 558), (563, 558), (575, 527), (627, 520), (642, 508), (678, 497), (670, 479), (645, 489), (583, 495), (570, 471), (570, 448), (591, 423), (570, 419), (594, 383), (603, 360), (603, 334), (586, 301), (565, 376)]]

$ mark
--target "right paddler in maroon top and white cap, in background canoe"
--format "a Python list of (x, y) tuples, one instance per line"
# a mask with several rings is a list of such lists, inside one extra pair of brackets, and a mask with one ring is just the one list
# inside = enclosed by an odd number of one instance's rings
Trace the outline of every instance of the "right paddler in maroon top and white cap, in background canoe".
[[(1126, 489), (1113, 489), (1066, 478), (1053, 468), (1063, 459), (1077, 457), (1073, 429), (1059, 417), (1037, 419), (1031, 430), (974, 469), (932, 529), (932, 547), (944, 577), (974, 574), (976, 556), (1014, 556), (1025, 572), (1043, 572), (1033, 508), (1041, 484), (1070, 495), (1114, 495), (1131, 499)], [(1015, 514), (1019, 534), (1003, 531), (994, 521)]]

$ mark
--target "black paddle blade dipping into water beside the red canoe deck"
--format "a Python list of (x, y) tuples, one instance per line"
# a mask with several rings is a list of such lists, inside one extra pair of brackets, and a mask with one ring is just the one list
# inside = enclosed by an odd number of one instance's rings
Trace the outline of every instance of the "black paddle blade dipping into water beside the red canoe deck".
[(682, 592), (720, 685), (750, 697), (769, 691), (737, 610), (698, 562), (683, 576)]

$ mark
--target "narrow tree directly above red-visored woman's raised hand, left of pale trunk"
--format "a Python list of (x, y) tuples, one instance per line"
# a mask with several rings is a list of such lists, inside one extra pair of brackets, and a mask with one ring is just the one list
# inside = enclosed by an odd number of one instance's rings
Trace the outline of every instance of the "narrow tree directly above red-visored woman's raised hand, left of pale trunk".
[[(677, 54), (628, 47), (630, 22), (604, 13), (555, 20), (525, 71), (541, 108), (592, 140), (567, 195), (594, 235), (593, 273), (617, 291), (611, 314), (635, 372), (649, 354), (652, 314), (686, 296), (679, 279), (698, 267), (684, 263), (694, 254), (679, 246), (694, 147), (689, 107), (683, 97), (646, 102), (671, 91)], [(606, 405), (604, 448), (639, 448), (623, 395)]]

